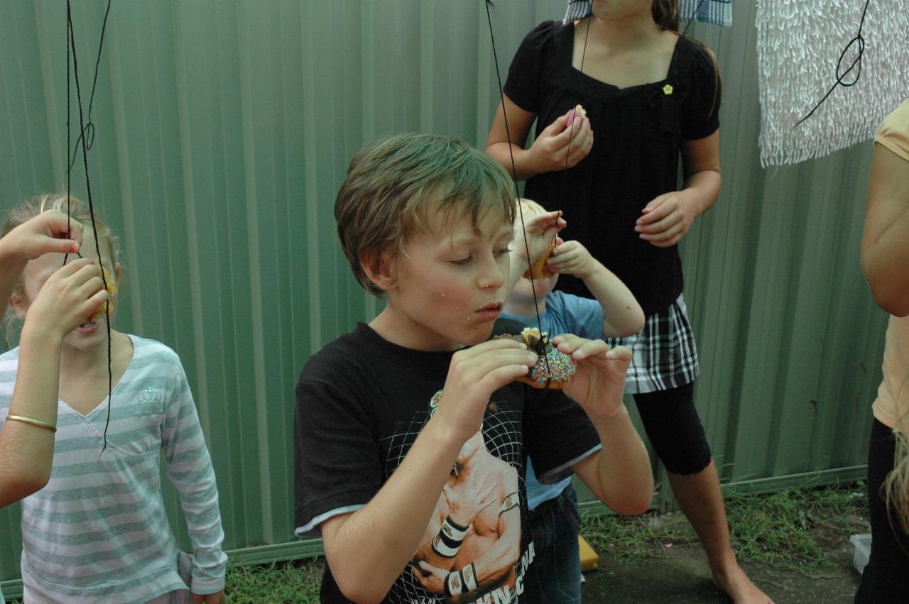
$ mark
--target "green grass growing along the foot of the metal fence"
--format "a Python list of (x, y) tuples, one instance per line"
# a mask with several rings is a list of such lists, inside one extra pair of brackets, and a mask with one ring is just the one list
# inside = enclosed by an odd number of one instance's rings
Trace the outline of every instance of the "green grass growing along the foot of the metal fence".
[[(864, 485), (787, 489), (773, 493), (724, 493), (733, 547), (739, 559), (813, 575), (828, 564), (826, 552), (855, 532), (866, 532)], [(601, 556), (622, 562), (666, 555), (666, 544), (694, 545), (697, 537), (681, 513), (584, 520), (584, 539)], [(227, 602), (310, 604), (318, 601), (324, 562), (294, 560), (264, 566), (231, 566)]]

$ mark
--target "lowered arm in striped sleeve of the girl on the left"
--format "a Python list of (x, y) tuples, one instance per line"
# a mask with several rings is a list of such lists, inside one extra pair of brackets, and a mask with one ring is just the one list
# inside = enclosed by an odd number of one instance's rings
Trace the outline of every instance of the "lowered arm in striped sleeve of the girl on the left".
[(165, 452), (167, 476), (180, 495), (180, 506), (193, 543), (190, 586), (193, 601), (218, 604), (224, 599), (227, 556), (221, 550), (225, 533), (218, 509), (215, 470), (205, 446), (189, 382), (183, 366), (178, 360), (175, 362), (175, 391), (165, 405), (161, 446)]

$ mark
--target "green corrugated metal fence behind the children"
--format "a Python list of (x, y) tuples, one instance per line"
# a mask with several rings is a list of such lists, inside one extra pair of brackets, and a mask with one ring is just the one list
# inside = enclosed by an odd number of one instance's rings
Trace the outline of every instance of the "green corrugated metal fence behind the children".
[[(74, 3), (86, 105), (104, 8)], [(495, 3), (503, 76), (526, 32), (563, 11)], [(65, 7), (0, 0), (0, 14), (6, 208), (65, 189)], [(724, 75), (723, 193), (682, 246), (698, 410), (724, 481), (854, 474), (886, 320), (858, 262), (871, 144), (763, 170), (754, 5), (734, 17), (690, 30)], [(297, 372), (380, 308), (335, 243), (335, 192), (379, 134), (484, 144), (498, 84), (483, 4), (118, 0), (106, 35), (89, 163), (99, 212), (124, 240), (117, 327), (185, 364), (225, 547), (294, 542)], [(73, 190), (85, 197), (80, 166)], [(186, 544), (169, 486), (165, 498)], [(0, 579), (17, 576), (17, 519), (17, 506), (0, 511)]]

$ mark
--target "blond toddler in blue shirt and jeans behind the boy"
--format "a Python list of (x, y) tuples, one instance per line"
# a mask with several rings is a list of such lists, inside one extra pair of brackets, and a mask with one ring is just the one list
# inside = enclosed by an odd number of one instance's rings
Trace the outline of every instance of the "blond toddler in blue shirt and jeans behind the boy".
[[(521, 200), (524, 218), (545, 213), (529, 199)], [(516, 224), (515, 228), (520, 228)], [(535, 326), (554, 337), (574, 333), (599, 339), (630, 336), (644, 326), (644, 311), (632, 292), (578, 242), (556, 239), (546, 267), (554, 274), (544, 279), (521, 278), (505, 300), (502, 316)], [(554, 292), (559, 273), (584, 281), (595, 300)], [(535, 296), (534, 296), (535, 292)], [(571, 477), (554, 484), (536, 479), (533, 460), (527, 460), (527, 508), (534, 537), (537, 575), (549, 604), (581, 601), (581, 560), (578, 549), (580, 514)]]

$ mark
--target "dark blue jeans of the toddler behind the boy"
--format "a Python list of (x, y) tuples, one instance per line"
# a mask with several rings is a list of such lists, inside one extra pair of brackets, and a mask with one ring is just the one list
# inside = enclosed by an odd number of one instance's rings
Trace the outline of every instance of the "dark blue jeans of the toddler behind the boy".
[(530, 512), (534, 565), (549, 604), (581, 602), (580, 526), (577, 494), (570, 484)]

